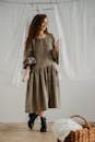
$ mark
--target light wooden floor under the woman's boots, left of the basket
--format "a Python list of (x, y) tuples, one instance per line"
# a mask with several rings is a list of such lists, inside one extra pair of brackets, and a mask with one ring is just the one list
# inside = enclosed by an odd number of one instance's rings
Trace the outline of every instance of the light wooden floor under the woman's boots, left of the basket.
[(27, 123), (0, 122), (0, 142), (56, 142), (48, 123), (47, 132), (39, 132), (40, 125), (35, 123), (29, 130)]

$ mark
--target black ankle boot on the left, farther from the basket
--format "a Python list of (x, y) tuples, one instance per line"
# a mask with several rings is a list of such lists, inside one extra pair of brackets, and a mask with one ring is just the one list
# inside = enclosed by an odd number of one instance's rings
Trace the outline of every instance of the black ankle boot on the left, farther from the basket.
[(38, 116), (38, 115), (36, 115), (35, 113), (28, 114), (29, 120), (28, 120), (27, 125), (28, 125), (28, 128), (29, 128), (29, 129), (33, 129), (33, 127), (34, 127), (34, 121), (35, 121), (35, 119), (37, 118), (37, 116)]

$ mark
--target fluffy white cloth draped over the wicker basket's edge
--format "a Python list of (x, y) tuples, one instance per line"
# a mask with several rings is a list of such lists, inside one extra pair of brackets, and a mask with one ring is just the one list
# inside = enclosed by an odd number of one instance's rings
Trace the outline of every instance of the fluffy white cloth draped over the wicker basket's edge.
[(56, 139), (64, 141), (71, 131), (82, 129), (82, 126), (71, 119), (58, 119), (51, 126), (51, 131)]

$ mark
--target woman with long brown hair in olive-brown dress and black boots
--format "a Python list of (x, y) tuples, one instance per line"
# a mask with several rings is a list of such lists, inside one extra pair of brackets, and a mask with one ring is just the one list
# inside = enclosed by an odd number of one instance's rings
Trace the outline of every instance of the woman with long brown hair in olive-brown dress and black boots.
[(39, 116), (40, 132), (47, 131), (44, 111), (59, 107), (59, 79), (57, 63), (59, 62), (59, 46), (55, 45), (54, 35), (47, 29), (47, 15), (34, 16), (25, 43), (23, 81), (27, 82), (25, 113), (28, 113), (28, 128), (33, 129), (35, 119)]

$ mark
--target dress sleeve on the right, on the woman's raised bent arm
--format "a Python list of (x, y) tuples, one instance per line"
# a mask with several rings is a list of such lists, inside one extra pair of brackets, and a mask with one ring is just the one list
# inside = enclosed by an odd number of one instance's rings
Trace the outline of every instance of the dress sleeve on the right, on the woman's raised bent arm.
[(54, 61), (59, 63), (59, 52), (57, 52), (55, 50), (55, 37), (54, 37), (54, 35), (51, 35), (51, 37), (52, 37), (52, 47), (54, 47), (52, 50), (51, 50), (52, 59), (54, 59)]

